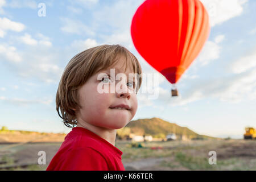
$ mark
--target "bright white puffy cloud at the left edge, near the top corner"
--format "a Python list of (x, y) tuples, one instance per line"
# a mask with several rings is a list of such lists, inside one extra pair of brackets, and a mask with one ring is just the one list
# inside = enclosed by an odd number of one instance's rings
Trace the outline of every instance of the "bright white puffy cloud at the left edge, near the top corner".
[(8, 18), (0, 18), (0, 38), (3, 38), (6, 34), (6, 31), (16, 31), (21, 32), (25, 28), (24, 24), (19, 22), (13, 22)]

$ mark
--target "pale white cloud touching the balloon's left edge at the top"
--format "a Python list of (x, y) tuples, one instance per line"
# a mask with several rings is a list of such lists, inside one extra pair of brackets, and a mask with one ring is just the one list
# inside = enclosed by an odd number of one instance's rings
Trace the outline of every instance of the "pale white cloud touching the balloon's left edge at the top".
[[(142, 2), (143, 0), (119, 0), (93, 11), (94, 26), (97, 30), (106, 30), (106, 33), (98, 35), (102, 44), (121, 44), (126, 48), (133, 48), (130, 22)], [(108, 30), (114, 31), (109, 34)]]

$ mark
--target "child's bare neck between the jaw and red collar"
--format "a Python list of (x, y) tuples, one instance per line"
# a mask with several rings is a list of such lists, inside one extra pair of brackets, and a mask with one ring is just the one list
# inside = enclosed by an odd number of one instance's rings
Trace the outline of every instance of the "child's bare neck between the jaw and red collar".
[(103, 127), (98, 127), (94, 125), (90, 125), (89, 123), (77, 123), (77, 127), (83, 127), (87, 130), (92, 131), (93, 133), (97, 134), (101, 138), (107, 140), (109, 143), (113, 144), (115, 146), (115, 137), (117, 135), (117, 130), (115, 129), (105, 129)]

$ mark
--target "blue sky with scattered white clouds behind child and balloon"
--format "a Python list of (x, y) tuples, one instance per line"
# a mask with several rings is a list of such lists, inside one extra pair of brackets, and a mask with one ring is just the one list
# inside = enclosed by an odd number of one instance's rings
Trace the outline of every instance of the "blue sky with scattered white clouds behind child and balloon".
[[(77, 53), (121, 44), (148, 79), (133, 120), (161, 118), (212, 137), (242, 138), (256, 127), (256, 1), (202, 0), (210, 35), (199, 56), (171, 84), (135, 49), (131, 19), (142, 0), (0, 0), (0, 126), (10, 130), (68, 133), (55, 96), (65, 66)], [(45, 10), (45, 11), (44, 11)], [(154, 45), (152, 45), (154, 46)], [(156, 46), (156, 45), (155, 45)], [(158, 97), (152, 99), (152, 93)]]

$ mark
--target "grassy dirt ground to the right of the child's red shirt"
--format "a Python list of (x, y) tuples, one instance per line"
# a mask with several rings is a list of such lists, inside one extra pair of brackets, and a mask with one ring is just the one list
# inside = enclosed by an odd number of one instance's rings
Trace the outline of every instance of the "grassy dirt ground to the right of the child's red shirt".
[[(256, 140), (209, 140), (168, 144), (163, 149), (156, 150), (162, 157), (150, 156), (134, 161), (123, 159), (126, 170), (256, 170)], [(216, 151), (217, 164), (209, 164), (209, 151)]]

